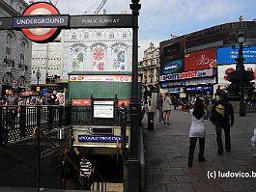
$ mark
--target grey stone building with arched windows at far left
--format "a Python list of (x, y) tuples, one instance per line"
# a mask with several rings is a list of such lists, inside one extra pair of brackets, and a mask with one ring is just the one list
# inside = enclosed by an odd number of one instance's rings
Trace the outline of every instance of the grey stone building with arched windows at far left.
[[(24, 0), (0, 1), (0, 17), (22, 14), (27, 7)], [(29, 89), (31, 77), (31, 41), (21, 32), (0, 31), (0, 90)]]

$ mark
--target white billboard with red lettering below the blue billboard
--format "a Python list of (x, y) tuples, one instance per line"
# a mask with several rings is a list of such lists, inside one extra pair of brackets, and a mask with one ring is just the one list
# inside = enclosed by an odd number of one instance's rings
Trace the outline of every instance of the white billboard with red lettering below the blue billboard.
[[(217, 67), (217, 75), (218, 75), (218, 85), (226, 86), (229, 85), (230, 82), (228, 79), (228, 73), (234, 71), (236, 69), (236, 64), (233, 65), (223, 65)], [(251, 70), (254, 72), (254, 80), (252, 82), (256, 82), (256, 65), (255, 64), (244, 64), (245, 70)]]

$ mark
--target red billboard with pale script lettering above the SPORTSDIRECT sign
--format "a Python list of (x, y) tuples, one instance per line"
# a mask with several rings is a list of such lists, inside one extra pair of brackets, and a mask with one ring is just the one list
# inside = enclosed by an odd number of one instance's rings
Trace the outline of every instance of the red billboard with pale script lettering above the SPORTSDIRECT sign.
[(206, 49), (185, 55), (185, 71), (216, 68), (216, 49)]

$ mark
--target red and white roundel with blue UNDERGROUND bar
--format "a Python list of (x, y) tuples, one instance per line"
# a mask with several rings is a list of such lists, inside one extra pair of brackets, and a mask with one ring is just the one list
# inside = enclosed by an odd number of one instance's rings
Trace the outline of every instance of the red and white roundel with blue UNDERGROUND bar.
[(69, 25), (69, 15), (60, 15), (57, 8), (47, 2), (31, 4), (22, 15), (14, 17), (14, 28), (21, 28), (29, 40), (39, 43), (55, 40), (61, 27)]

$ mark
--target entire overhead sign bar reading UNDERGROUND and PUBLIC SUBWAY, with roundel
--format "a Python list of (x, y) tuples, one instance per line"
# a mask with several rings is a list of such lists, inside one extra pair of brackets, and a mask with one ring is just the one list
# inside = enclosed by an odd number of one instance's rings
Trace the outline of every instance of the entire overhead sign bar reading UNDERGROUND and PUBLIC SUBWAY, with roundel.
[(0, 30), (21, 30), (31, 41), (45, 43), (55, 40), (61, 29), (70, 28), (132, 28), (132, 14), (69, 15), (60, 14), (47, 2), (31, 4), (22, 16), (0, 17)]

